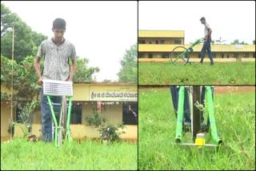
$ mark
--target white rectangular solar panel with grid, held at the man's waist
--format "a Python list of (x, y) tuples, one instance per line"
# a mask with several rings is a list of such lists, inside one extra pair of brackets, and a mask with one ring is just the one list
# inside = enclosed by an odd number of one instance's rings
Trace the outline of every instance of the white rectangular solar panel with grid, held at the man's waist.
[(73, 82), (43, 80), (43, 94), (49, 96), (73, 96)]

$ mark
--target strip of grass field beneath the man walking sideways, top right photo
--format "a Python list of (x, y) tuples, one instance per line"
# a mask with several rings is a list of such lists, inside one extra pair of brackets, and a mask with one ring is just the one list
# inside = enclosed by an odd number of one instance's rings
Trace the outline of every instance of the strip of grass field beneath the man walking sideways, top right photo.
[(138, 85), (254, 85), (255, 62), (218, 63), (210, 66), (139, 62)]

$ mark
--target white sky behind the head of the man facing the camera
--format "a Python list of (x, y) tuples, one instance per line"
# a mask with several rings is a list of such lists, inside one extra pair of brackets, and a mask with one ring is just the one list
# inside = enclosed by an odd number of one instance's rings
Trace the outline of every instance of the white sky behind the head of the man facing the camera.
[(53, 36), (55, 18), (66, 20), (64, 37), (80, 58), (98, 66), (97, 81), (117, 81), (120, 60), (137, 42), (138, 2), (6, 2), (32, 30)]

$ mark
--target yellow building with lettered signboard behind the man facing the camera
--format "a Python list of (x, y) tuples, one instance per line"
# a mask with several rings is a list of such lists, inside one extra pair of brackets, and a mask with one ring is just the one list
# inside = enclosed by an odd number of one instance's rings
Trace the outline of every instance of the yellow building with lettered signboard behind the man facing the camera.
[[(128, 110), (128, 105), (138, 113), (137, 85), (126, 83), (74, 83), (74, 97), (71, 111), (70, 130), (74, 138), (99, 137), (94, 126), (86, 125), (86, 116), (91, 116), (94, 109), (102, 113), (111, 124), (123, 124), (126, 133), (122, 139), (138, 139), (138, 119)], [(1, 92), (10, 90), (1, 85)], [(14, 110), (14, 121), (18, 121), (18, 109)], [(32, 133), (41, 137), (41, 112), (36, 111), (31, 116)], [(8, 133), (10, 122), (10, 101), (1, 100), (1, 138), (10, 137)], [(14, 137), (22, 137), (22, 127), (14, 127)]]

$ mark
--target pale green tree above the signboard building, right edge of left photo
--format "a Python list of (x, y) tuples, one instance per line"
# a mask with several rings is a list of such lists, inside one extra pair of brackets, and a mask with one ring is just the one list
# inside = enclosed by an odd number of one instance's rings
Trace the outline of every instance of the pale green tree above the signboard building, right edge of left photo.
[(137, 44), (130, 46), (130, 50), (126, 50), (121, 60), (121, 70), (118, 73), (118, 82), (138, 82), (138, 52)]

